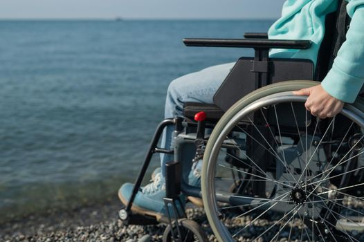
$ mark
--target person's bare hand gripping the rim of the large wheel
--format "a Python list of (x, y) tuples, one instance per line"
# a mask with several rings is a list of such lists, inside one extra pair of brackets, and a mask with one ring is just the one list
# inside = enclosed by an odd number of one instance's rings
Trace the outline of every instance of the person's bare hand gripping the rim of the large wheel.
[(329, 93), (322, 89), (321, 85), (293, 91), (293, 94), (309, 96), (304, 106), (312, 115), (321, 119), (334, 117), (340, 113), (344, 106), (344, 102), (329, 95)]

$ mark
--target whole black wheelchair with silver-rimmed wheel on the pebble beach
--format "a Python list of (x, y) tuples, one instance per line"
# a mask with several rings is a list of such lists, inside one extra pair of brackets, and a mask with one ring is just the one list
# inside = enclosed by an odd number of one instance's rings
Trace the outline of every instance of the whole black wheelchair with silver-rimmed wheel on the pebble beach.
[[(304, 108), (307, 97), (292, 94), (325, 77), (345, 36), (346, 28), (335, 28), (347, 26), (344, 11), (345, 2), (326, 19), (316, 70), (308, 60), (269, 58), (270, 49), (306, 49), (310, 41), (262, 33), (184, 39), (186, 46), (254, 48), (255, 56), (237, 61), (215, 104), (186, 103), (185, 118), (158, 125), (129, 203), (120, 210), (122, 221), (167, 223), (163, 241), (208, 241), (199, 224), (185, 218), (182, 192), (202, 199), (218, 241), (364, 241), (364, 100), (321, 120)], [(170, 124), (174, 147), (167, 150), (158, 140)], [(167, 217), (131, 211), (154, 153), (174, 153), (165, 174)], [(201, 188), (192, 187), (188, 172), (201, 159)], [(253, 225), (255, 235), (248, 233)]]

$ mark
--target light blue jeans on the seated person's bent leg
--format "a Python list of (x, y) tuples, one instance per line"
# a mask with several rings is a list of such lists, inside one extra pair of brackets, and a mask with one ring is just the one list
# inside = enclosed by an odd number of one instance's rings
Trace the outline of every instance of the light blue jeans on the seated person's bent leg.
[[(173, 80), (168, 86), (165, 100), (165, 118), (183, 117), (185, 102), (201, 102), (212, 104), (212, 97), (216, 93), (225, 77), (233, 68), (235, 62), (210, 66), (201, 71), (183, 75)], [(173, 149), (172, 133), (174, 127), (167, 126), (163, 132), (161, 147)], [(162, 174), (165, 174), (165, 163), (174, 160), (173, 155), (161, 154)]]

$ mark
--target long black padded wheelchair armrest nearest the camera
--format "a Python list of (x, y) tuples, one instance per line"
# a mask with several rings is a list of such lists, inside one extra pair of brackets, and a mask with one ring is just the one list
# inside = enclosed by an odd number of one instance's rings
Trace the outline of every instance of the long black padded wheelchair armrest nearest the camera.
[(307, 49), (311, 46), (309, 40), (281, 39), (183, 39), (185, 46), (234, 47), (234, 48), (288, 48)]

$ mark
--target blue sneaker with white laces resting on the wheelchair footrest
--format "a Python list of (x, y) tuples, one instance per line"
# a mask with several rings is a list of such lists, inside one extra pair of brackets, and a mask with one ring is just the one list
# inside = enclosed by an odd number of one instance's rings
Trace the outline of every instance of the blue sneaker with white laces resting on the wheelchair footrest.
[[(120, 187), (118, 196), (124, 205), (127, 205), (129, 202), (133, 188), (134, 184), (131, 183), (125, 183)], [(163, 198), (165, 197), (165, 179), (162, 174), (156, 174), (152, 183), (140, 188), (141, 190), (136, 194), (131, 210), (138, 214), (155, 216), (158, 221), (161, 220), (162, 216), (167, 216), (165, 203), (163, 201)], [(181, 201), (183, 202), (184, 199), (181, 199)], [(179, 203), (177, 203), (177, 206), (178, 205)], [(178, 209), (181, 210), (181, 207), (178, 207)], [(172, 209), (170, 209), (169, 212), (174, 216)]]

